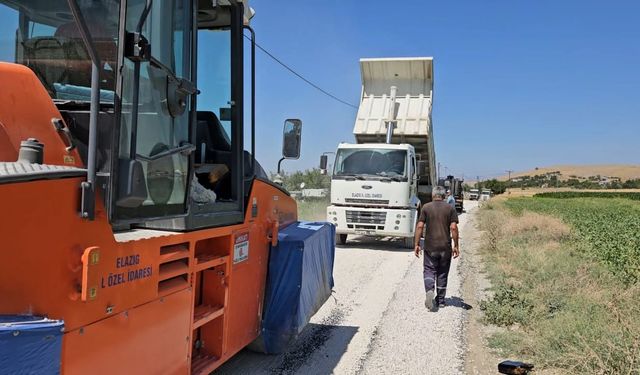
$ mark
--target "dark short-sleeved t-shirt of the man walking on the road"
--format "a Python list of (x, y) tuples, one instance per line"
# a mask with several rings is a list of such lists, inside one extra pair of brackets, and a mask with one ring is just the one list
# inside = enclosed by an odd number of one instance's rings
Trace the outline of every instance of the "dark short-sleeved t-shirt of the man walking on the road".
[(451, 249), (451, 223), (458, 222), (456, 209), (445, 201), (433, 201), (422, 206), (419, 221), (424, 223), (424, 248), (427, 251)]

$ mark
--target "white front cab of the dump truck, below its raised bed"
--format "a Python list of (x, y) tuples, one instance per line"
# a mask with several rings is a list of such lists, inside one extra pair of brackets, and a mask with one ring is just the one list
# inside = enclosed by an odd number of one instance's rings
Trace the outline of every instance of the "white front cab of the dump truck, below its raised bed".
[(411, 145), (340, 144), (327, 207), (339, 242), (349, 234), (412, 240), (420, 208), (418, 179)]

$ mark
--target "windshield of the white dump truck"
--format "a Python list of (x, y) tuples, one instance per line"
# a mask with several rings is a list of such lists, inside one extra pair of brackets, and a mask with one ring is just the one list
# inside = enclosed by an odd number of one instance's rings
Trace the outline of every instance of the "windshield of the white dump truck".
[(406, 164), (406, 150), (346, 148), (337, 152), (333, 175), (404, 177)]

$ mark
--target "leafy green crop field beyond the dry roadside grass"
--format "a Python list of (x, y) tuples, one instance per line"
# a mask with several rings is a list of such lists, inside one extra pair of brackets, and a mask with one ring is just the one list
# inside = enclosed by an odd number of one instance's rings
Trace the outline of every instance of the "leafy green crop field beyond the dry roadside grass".
[(640, 196), (627, 193), (627, 198), (612, 198), (617, 194), (590, 193), (593, 197), (586, 198), (582, 194), (583, 198), (570, 198), (575, 193), (566, 192), (550, 195), (558, 198), (543, 195), (534, 199), (509, 199), (505, 205), (516, 213), (527, 210), (560, 218), (574, 229), (586, 254), (602, 262), (624, 282), (637, 282), (640, 280)]

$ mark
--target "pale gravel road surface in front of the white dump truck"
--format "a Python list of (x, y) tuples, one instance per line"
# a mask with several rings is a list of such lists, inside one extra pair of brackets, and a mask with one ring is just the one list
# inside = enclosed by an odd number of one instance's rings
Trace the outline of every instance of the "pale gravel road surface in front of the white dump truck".
[[(461, 233), (475, 202), (460, 215)], [(467, 204), (467, 202), (465, 202)], [(461, 237), (461, 258), (465, 242)], [(288, 352), (248, 350), (220, 374), (453, 374), (464, 371), (460, 261), (449, 273), (447, 306), (424, 307), (422, 258), (400, 240), (349, 237), (336, 248), (335, 293)]]

